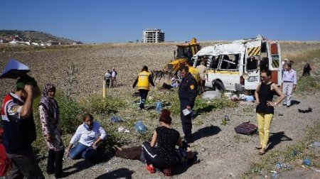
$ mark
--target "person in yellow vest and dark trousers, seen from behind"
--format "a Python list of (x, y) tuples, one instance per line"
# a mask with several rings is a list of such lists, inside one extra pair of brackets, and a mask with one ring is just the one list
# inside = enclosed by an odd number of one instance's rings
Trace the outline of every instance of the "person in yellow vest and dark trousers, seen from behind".
[(154, 87), (154, 81), (151, 77), (151, 74), (148, 72), (148, 67), (144, 66), (142, 67), (142, 71), (139, 73), (137, 79), (134, 81), (134, 85), (132, 85), (133, 89), (137, 85), (140, 93), (139, 111), (144, 109), (144, 102), (146, 102), (146, 96), (150, 90), (150, 83)]

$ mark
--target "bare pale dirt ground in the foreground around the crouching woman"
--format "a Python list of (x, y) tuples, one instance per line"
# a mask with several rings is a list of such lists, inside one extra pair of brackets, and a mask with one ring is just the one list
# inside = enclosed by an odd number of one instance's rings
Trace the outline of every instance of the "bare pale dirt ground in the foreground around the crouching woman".
[[(288, 146), (301, 141), (308, 126), (311, 126), (314, 121), (319, 121), (319, 102), (319, 94), (314, 94), (294, 97), (294, 105), (290, 108), (277, 106), (270, 131), (270, 151), (285, 150)], [(308, 107), (313, 109), (311, 113), (298, 112), (298, 109)], [(221, 119), (225, 114), (229, 115), (230, 121), (223, 126)], [(198, 153), (201, 161), (193, 166), (181, 164), (171, 178), (241, 178), (250, 163), (260, 160), (261, 156), (255, 149), (258, 136), (240, 135), (234, 130), (235, 126), (242, 121), (251, 121), (256, 124), (254, 104), (240, 105), (235, 109), (221, 109), (210, 112), (206, 116), (197, 116), (193, 120), (193, 124), (199, 120), (203, 121), (201, 125), (193, 125), (196, 141), (191, 144), (191, 148)], [(178, 127), (178, 131), (182, 134), (181, 126)], [(41, 166), (45, 166), (46, 160), (41, 163)], [(63, 168), (70, 173), (68, 178), (166, 178), (161, 172), (148, 173), (140, 161), (117, 157), (94, 166), (86, 161), (72, 161), (67, 158)], [(266, 173), (266, 175), (267, 178), (271, 178), (272, 173)], [(279, 178), (319, 178), (320, 173), (292, 166), (289, 171), (278, 175)], [(53, 178), (53, 176), (46, 175), (46, 178)], [(257, 176), (257, 178), (264, 177)]]

